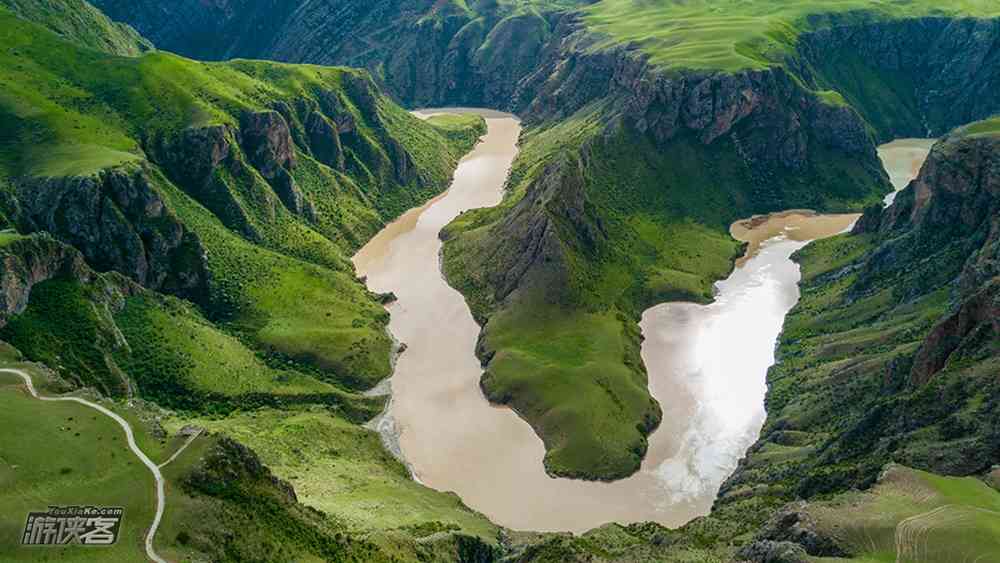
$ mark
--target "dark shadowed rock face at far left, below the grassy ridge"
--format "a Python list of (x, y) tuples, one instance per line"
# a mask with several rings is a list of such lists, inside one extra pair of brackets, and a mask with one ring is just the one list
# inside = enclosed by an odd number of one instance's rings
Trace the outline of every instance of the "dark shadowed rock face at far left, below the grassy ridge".
[(23, 180), (17, 190), (22, 232), (47, 231), (79, 249), (94, 268), (145, 287), (205, 298), (205, 250), (166, 208), (146, 165)]

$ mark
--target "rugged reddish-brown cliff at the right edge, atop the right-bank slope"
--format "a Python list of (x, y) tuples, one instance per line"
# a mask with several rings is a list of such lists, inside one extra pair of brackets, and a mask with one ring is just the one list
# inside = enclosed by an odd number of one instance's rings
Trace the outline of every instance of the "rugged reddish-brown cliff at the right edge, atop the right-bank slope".
[[(862, 270), (859, 290), (901, 263), (928, 270), (926, 284), (953, 287), (955, 305), (918, 349), (909, 379), (927, 384), (950, 362), (1000, 351), (1000, 138), (946, 137), (887, 210), (871, 210), (859, 232), (886, 242)], [(933, 287), (933, 285), (930, 285)]]

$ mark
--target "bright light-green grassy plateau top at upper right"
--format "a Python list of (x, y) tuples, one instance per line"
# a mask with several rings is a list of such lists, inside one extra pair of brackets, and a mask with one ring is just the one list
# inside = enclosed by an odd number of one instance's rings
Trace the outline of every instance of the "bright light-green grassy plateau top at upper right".
[(638, 44), (670, 69), (739, 71), (779, 66), (800, 34), (830, 22), (922, 16), (1000, 16), (991, 0), (601, 0), (583, 9), (606, 36)]

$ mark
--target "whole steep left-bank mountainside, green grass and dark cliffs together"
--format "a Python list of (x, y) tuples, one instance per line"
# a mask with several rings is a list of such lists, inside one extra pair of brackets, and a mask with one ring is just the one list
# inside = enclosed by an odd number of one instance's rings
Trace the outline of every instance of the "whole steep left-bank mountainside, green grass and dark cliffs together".
[(388, 375), (385, 312), (347, 256), (444, 189), (475, 134), (443, 135), (360, 71), (123, 59), (0, 18), (9, 224), (342, 384)]

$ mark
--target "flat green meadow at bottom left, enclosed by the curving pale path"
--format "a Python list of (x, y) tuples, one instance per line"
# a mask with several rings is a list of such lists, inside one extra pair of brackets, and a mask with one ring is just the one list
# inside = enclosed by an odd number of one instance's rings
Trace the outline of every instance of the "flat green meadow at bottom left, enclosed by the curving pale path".
[[(0, 374), (0, 559), (146, 561), (142, 538), (155, 507), (153, 476), (128, 450), (116, 422), (75, 403), (30, 398), (20, 378)], [(120, 506), (119, 541), (109, 548), (20, 547), (29, 511), (49, 505)]]

